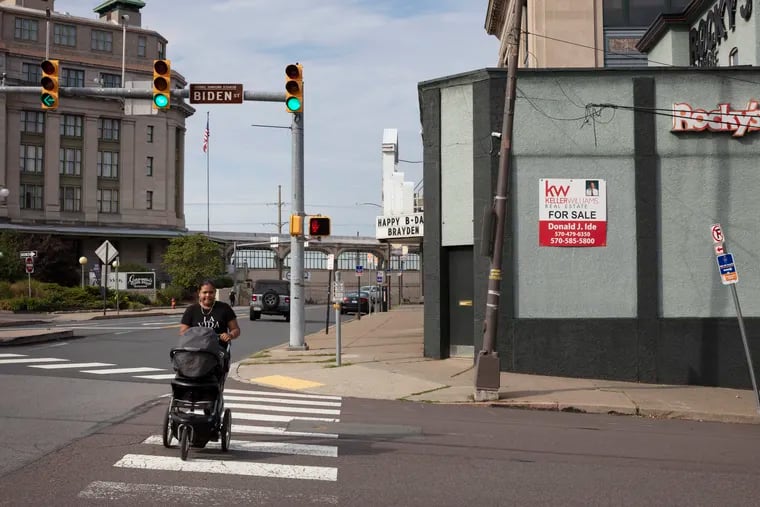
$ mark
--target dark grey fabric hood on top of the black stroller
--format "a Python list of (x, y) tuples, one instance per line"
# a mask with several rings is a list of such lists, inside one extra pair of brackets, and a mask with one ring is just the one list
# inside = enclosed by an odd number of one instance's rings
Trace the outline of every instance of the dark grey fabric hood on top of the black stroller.
[(200, 378), (219, 373), (224, 367), (224, 354), (214, 330), (196, 326), (180, 335), (169, 356), (178, 375)]

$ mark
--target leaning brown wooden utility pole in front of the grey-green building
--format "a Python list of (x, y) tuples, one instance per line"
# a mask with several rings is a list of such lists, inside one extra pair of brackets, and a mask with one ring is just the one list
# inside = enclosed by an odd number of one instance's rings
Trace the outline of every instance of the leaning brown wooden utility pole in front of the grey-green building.
[(493, 252), (491, 253), (491, 268), (488, 274), (488, 294), (486, 296), (483, 348), (478, 354), (477, 364), (475, 366), (476, 401), (494, 400), (499, 398), (499, 354), (495, 349), (499, 323), (502, 250), (504, 249), (504, 229), (506, 226), (507, 196), (509, 194), (512, 126), (515, 115), (517, 59), (520, 50), (522, 6), (523, 0), (512, 0), (512, 19), (508, 35), (509, 47), (507, 49), (507, 87), (504, 98), (504, 117), (502, 119), (501, 127), (501, 148), (499, 150), (499, 174), (496, 181), (496, 195), (494, 196), (493, 201), (493, 213), (495, 217), (494, 244)]

